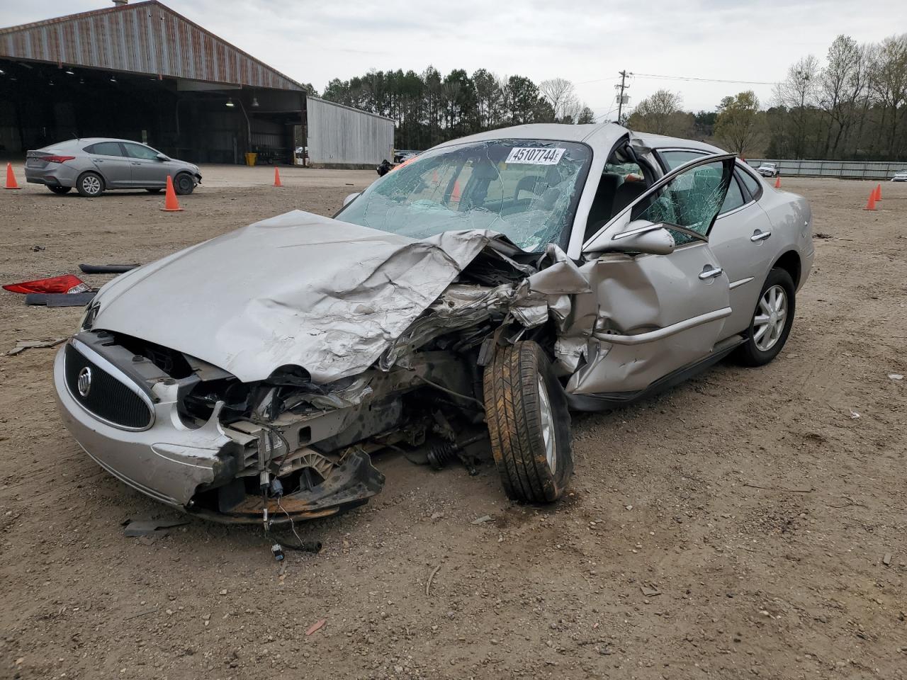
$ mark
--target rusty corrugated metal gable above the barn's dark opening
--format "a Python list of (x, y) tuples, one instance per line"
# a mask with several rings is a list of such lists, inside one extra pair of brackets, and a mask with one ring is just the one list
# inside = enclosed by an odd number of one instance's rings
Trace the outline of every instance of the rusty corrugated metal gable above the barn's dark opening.
[(158, 0), (0, 28), (0, 57), (303, 90), (296, 81)]

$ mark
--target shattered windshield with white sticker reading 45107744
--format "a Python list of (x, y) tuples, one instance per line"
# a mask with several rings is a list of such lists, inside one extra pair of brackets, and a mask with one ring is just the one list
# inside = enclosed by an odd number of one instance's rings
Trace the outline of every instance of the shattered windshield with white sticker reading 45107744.
[(492, 229), (528, 252), (559, 242), (591, 151), (570, 141), (492, 140), (426, 151), (375, 181), (336, 219), (411, 238)]

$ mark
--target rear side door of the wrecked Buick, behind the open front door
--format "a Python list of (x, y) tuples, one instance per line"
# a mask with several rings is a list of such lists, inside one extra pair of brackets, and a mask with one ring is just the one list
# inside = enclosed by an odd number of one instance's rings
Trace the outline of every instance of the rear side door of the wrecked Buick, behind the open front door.
[[(689, 160), (702, 158), (701, 151), (659, 150), (666, 170)], [(736, 164), (727, 197), (709, 234), (709, 245), (730, 284), (731, 316), (725, 322), (728, 333), (741, 333), (749, 327), (759, 292), (772, 266), (773, 249), (767, 246), (772, 225), (759, 205), (762, 185)]]

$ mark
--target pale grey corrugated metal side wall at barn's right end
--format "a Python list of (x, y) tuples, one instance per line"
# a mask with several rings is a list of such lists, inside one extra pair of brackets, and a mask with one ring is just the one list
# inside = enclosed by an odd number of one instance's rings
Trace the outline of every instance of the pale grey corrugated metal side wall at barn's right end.
[(377, 165), (392, 160), (394, 121), (316, 97), (307, 97), (306, 107), (312, 165)]

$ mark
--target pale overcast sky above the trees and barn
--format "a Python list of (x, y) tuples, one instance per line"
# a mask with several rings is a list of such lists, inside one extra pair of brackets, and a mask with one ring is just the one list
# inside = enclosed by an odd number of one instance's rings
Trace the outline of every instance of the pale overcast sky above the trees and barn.
[[(659, 88), (684, 107), (713, 110), (721, 97), (770, 84), (704, 83), (642, 74), (773, 83), (805, 54), (824, 57), (837, 34), (858, 42), (907, 31), (907, 0), (170, 0), (165, 3), (294, 80), (320, 92), (332, 78), (369, 69), (442, 73), (486, 68), (536, 83), (576, 84), (596, 114), (614, 115), (618, 72), (630, 105)], [(0, 0), (0, 26), (110, 6), (102, 0)]]

